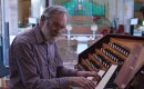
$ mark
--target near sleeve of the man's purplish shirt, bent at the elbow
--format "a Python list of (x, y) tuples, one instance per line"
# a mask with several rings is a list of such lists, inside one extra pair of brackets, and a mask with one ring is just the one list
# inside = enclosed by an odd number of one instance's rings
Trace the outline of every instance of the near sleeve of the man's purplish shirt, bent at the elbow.
[(33, 59), (32, 47), (27, 43), (18, 43), (14, 46), (16, 61), (18, 65), (19, 76), (24, 85), (24, 89), (53, 89), (69, 87), (68, 77), (41, 79), (38, 73), (37, 63)]

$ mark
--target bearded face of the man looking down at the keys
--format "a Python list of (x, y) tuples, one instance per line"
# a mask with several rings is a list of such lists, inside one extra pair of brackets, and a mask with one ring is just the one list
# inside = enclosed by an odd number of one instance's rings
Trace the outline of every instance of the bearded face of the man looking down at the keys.
[(50, 36), (58, 37), (62, 34), (63, 31), (65, 30), (66, 22), (68, 22), (68, 17), (65, 13), (52, 14), (52, 18), (49, 24)]

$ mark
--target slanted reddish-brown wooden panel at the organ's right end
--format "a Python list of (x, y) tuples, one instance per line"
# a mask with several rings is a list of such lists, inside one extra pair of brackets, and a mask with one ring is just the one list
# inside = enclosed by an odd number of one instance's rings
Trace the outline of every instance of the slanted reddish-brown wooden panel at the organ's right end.
[[(142, 46), (136, 44), (134, 47), (133, 51), (131, 52), (130, 57), (125, 61), (123, 69), (121, 69), (121, 71), (119, 72), (119, 75), (115, 79), (115, 82), (119, 86), (119, 88), (124, 89), (127, 86), (127, 83), (130, 82), (130, 80), (132, 79), (131, 76), (134, 72), (134, 69), (140, 59), (141, 52), (142, 52)], [(142, 62), (142, 60), (141, 60), (141, 62)]]

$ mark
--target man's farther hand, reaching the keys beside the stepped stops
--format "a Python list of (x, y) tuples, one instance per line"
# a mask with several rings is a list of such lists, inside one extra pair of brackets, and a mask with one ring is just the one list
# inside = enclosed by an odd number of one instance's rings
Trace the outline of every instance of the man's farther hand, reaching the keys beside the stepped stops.
[(95, 81), (100, 81), (101, 80), (101, 77), (95, 71), (78, 71), (76, 76), (78, 77), (94, 77)]

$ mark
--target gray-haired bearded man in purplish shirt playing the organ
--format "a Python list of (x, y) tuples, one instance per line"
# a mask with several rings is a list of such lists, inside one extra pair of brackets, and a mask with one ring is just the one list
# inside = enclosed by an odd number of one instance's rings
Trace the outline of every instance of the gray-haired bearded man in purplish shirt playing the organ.
[(70, 86), (94, 89), (85, 77), (100, 77), (95, 71), (63, 67), (55, 38), (65, 29), (68, 12), (61, 6), (44, 10), (39, 23), (18, 34), (10, 48), (10, 89), (68, 89)]

